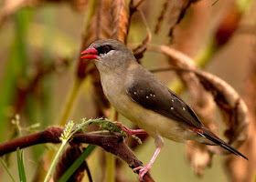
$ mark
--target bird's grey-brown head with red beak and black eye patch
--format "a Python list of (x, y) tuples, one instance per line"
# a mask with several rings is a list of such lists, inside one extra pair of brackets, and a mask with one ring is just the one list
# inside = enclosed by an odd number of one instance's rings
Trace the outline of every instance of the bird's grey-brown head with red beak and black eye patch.
[(91, 59), (99, 71), (113, 71), (135, 61), (132, 51), (122, 42), (112, 39), (98, 40), (82, 53), (83, 59)]

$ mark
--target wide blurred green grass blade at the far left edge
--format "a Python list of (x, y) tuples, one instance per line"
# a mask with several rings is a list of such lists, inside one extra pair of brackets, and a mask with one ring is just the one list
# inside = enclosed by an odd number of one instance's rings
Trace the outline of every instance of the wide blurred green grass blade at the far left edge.
[(16, 95), (16, 81), (27, 76), (27, 27), (31, 18), (30, 10), (23, 8), (14, 15), (16, 35), (10, 56), (6, 61), (5, 75), (0, 86), (0, 142), (5, 139), (7, 116), (11, 111)]

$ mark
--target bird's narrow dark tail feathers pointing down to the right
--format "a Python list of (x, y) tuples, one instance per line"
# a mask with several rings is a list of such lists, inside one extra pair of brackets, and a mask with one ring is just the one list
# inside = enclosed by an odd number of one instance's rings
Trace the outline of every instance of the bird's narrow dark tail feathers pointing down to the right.
[(224, 142), (222, 139), (220, 139), (218, 136), (215, 136), (211, 131), (209, 131), (206, 128), (202, 129), (202, 133), (200, 133), (200, 136), (205, 136), (206, 138), (208, 138), (210, 141), (212, 141), (213, 143), (219, 145), (220, 147), (225, 148), (226, 150), (228, 150), (229, 152), (231, 152), (232, 154), (239, 156), (239, 157), (243, 157), (246, 160), (248, 160), (247, 157), (243, 156), (239, 151), (237, 151), (235, 148), (230, 147), (229, 144), (227, 144), (226, 142)]

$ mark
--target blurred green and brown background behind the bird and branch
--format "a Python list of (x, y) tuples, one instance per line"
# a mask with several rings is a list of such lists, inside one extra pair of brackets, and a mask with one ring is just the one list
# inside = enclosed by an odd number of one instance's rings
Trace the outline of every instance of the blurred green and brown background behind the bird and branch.
[[(139, 1), (134, 1), (135, 5), (136, 2)], [(253, 75), (256, 70), (256, 1), (195, 1), (189, 4), (181, 21), (176, 24), (177, 16), (182, 14), (180, 10), (185, 9), (180, 6), (180, 2), (183, 1), (144, 0), (139, 6), (152, 33), (150, 44), (170, 45), (196, 60), (199, 67), (219, 76), (246, 102), (249, 100), (249, 111), (251, 116), (255, 116), (253, 92), (248, 90), (253, 90), (251, 84), (256, 85), (256, 76)], [(186, 5), (189, 1), (184, 2)], [(97, 79), (93, 74), (83, 75), (90, 66), (84, 68), (80, 65), (80, 52), (91, 44), (90, 38), (97, 39), (94, 36), (102, 28), (92, 25), (93, 15), (97, 12), (101, 14), (103, 27), (107, 26), (108, 21), (111, 22), (104, 15), (110, 10), (111, 3), (107, 0), (0, 2), (1, 143), (48, 126), (64, 126), (69, 119), (79, 123), (83, 117), (110, 116), (109, 105), (101, 100), (102, 96), (97, 95), (97, 89), (100, 89), (95, 84)], [(127, 5), (129, 3), (127, 1)], [(99, 13), (101, 8), (105, 9)], [(159, 27), (156, 28), (156, 25)], [(127, 45), (133, 48), (144, 40), (146, 27), (136, 13), (128, 27)], [(155, 33), (155, 29), (158, 33)], [(98, 39), (104, 38), (103, 35)], [(167, 67), (167, 60), (163, 54), (148, 50), (140, 61), (147, 69), (154, 69)], [(176, 88), (174, 82), (178, 77), (173, 72), (161, 72), (155, 76), (165, 85)], [(251, 80), (249, 84), (248, 80)], [(175, 91), (187, 103), (191, 103), (186, 89), (176, 88)], [(214, 118), (219, 136), (224, 137), (221, 131), (225, 125), (218, 109), (216, 111)], [(119, 121), (133, 127), (123, 116), (119, 116)], [(95, 126), (91, 126), (92, 129)], [(251, 133), (254, 130), (250, 129)], [(227, 166), (228, 157), (214, 156), (210, 167), (200, 172), (189, 165), (185, 144), (165, 140), (165, 147), (155, 160), (151, 174), (155, 181), (255, 181), (256, 157), (251, 156), (251, 153), (256, 145), (250, 132), (249, 138), (244, 145), (246, 147), (239, 150), (250, 161), (235, 158), (240, 160), (235, 163), (240, 166), (239, 169)], [(43, 174), (47, 172), (49, 162), (42, 165), (42, 160), (47, 160), (46, 151), (55, 152), (56, 147), (40, 145), (25, 149), (27, 181), (39, 181), (35, 177), (38, 171)], [(190, 149), (193, 150), (193, 147)], [(155, 143), (151, 137), (134, 150), (144, 164), (147, 164), (154, 151)], [(105, 180), (102, 153), (102, 149), (97, 147), (88, 159), (94, 181)], [(5, 157), (5, 160), (17, 178), (16, 155)], [(123, 164), (122, 171), (119, 173), (122, 177), (117, 177), (119, 181), (137, 181), (137, 175), (126, 164)], [(0, 181), (11, 181), (2, 166), (0, 174)], [(84, 177), (83, 181), (88, 181), (88, 178)]]

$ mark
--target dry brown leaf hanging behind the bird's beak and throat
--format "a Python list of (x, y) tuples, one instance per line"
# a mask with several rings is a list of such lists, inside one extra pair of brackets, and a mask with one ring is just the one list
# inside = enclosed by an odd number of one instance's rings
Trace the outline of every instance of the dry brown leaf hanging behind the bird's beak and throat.
[[(111, 13), (110, 13), (110, 0), (94, 0), (91, 2), (91, 18), (88, 21), (83, 31), (82, 44), (80, 51), (91, 45), (99, 39), (109, 38), (111, 35)], [(80, 59), (77, 76), (80, 80), (84, 79), (88, 74), (91, 74), (91, 81), (94, 86), (95, 95), (94, 103), (96, 105), (96, 116), (105, 116), (103, 110), (110, 106), (109, 101), (104, 96), (101, 88), (101, 78), (98, 70), (95, 68), (91, 61)]]

